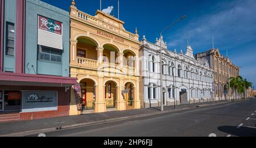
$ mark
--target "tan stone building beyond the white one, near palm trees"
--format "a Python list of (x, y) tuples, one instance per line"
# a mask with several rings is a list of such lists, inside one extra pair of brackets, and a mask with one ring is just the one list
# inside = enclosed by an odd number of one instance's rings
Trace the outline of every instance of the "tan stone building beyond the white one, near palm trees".
[[(196, 54), (199, 60), (206, 60), (210, 67), (214, 70), (214, 91), (217, 100), (236, 99), (236, 93), (229, 87), (229, 78), (237, 77), (240, 68), (234, 65), (229, 58), (225, 58), (220, 54), (218, 49), (210, 49), (207, 52)], [(238, 93), (237, 93), (238, 94)]]

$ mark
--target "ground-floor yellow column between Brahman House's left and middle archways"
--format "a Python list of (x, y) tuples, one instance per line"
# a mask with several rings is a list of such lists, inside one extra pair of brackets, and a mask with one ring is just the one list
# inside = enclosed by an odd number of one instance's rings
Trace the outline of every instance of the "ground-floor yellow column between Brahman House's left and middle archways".
[(98, 77), (98, 86), (96, 86), (96, 102), (94, 108), (95, 113), (106, 112), (104, 90), (103, 77)]

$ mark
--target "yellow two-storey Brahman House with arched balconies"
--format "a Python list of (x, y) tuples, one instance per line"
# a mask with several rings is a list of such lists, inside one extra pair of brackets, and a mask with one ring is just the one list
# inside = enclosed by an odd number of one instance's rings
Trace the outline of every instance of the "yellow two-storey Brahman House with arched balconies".
[[(141, 107), (139, 100), (139, 36), (124, 22), (97, 10), (91, 16), (70, 7), (71, 77), (81, 86), (82, 111), (123, 111)], [(70, 115), (79, 115), (74, 87)]]

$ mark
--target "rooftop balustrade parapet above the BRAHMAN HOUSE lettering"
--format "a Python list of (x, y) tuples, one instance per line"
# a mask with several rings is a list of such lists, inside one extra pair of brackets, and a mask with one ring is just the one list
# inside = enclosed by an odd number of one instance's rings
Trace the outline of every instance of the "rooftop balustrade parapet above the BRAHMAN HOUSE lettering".
[(86, 14), (85, 12), (77, 10), (76, 11), (76, 18), (78, 18), (78, 19), (80, 19), (84, 22), (94, 24), (98, 27), (104, 28), (104, 29), (106, 29), (110, 32), (118, 33), (118, 34), (120, 34), (122, 36), (125, 36), (125, 37), (128, 37), (130, 39), (133, 39), (133, 40), (136, 40), (136, 41), (139, 40), (139, 37), (137, 35), (135, 35), (134, 33), (131, 33), (129, 31), (125, 31), (124, 29), (121, 29), (121, 28), (118, 28), (118, 27), (114, 27), (111, 24), (107, 24), (107, 23), (103, 22), (102, 20), (100, 20), (98, 18), (95, 18), (92, 15)]

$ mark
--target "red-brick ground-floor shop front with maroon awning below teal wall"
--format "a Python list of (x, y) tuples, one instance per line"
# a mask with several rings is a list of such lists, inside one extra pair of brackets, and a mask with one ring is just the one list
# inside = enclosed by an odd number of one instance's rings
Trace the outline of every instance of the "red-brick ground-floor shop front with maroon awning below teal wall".
[(76, 79), (15, 73), (0, 78), (0, 122), (69, 116)]

